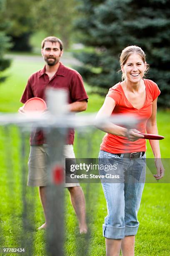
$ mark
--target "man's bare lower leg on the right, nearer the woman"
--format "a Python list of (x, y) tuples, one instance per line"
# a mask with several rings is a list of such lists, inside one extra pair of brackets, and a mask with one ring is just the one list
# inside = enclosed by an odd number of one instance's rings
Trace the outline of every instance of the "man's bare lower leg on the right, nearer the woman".
[(87, 233), (86, 214), (85, 214), (85, 197), (80, 186), (68, 187), (70, 199), (75, 213), (79, 220), (80, 234)]

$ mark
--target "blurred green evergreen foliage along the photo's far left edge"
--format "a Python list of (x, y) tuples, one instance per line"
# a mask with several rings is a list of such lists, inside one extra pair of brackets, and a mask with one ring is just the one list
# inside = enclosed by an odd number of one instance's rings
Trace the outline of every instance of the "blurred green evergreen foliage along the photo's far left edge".
[(5, 11), (5, 0), (0, 0), (0, 82), (5, 80), (3, 71), (10, 66), (10, 60), (4, 58), (5, 51), (9, 48), (9, 38), (5, 35), (5, 28), (7, 28), (8, 23), (6, 23), (2, 17)]

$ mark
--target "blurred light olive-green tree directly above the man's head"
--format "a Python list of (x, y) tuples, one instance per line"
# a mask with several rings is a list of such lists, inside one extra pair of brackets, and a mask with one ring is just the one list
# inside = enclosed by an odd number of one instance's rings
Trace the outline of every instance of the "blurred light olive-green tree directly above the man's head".
[(75, 0), (39, 0), (33, 7), (35, 28), (62, 38), (65, 48), (70, 44), (75, 16)]

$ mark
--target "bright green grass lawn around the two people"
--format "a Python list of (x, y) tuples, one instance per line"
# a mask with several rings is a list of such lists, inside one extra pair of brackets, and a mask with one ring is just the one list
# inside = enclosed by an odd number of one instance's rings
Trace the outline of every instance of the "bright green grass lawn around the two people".
[[(0, 112), (17, 112), (22, 105), (19, 100), (28, 77), (32, 72), (41, 69), (43, 62), (13, 61), (5, 73), (5, 83), (0, 85)], [(86, 85), (87, 91), (90, 92)], [(89, 94), (87, 112), (100, 109), (104, 98)], [(160, 141), (163, 158), (169, 158), (170, 112), (158, 111), (159, 133), (166, 138)], [(84, 129), (76, 132), (75, 154), (77, 157), (97, 157), (104, 133), (95, 129)], [(25, 154), (21, 158), (21, 138), (18, 128), (0, 128), (0, 247), (25, 246), (30, 255), (48, 255), (45, 252), (44, 231), (37, 227), (44, 221), (37, 189), (26, 186), (27, 158), (29, 153), (28, 133), (25, 137)], [(148, 145), (148, 157), (153, 157)], [(167, 163), (167, 162), (166, 162)], [(168, 167), (168, 165), (167, 165)], [(169, 169), (167, 168), (167, 173)], [(151, 175), (151, 174), (150, 174)], [(167, 174), (168, 175), (168, 174)], [(166, 179), (164, 179), (167, 181)], [(91, 237), (77, 235), (77, 220), (65, 190), (65, 255), (85, 256), (89, 243), (90, 256), (105, 255), (105, 240), (102, 237), (102, 223), (107, 213), (101, 184), (82, 184), (85, 192), (87, 217)], [(27, 206), (27, 223), (23, 223), (26, 214), (22, 202)], [(156, 182), (145, 184), (141, 207), (138, 214), (140, 228), (136, 236), (135, 255), (169, 256), (170, 255), (170, 185)], [(29, 232), (25, 233), (25, 225)], [(31, 246), (33, 244), (33, 246)], [(16, 254), (10, 254), (16, 255)]]

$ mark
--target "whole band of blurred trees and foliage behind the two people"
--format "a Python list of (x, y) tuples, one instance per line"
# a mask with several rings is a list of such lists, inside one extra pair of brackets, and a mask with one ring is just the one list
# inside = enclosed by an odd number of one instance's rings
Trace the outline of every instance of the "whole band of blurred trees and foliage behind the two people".
[[(158, 104), (170, 108), (169, 0), (0, 0), (0, 7), (1, 58), (9, 47), (6, 35), (15, 51), (31, 51), (30, 38), (37, 33), (40, 41), (60, 37), (65, 49), (78, 42), (84, 50), (75, 46), (82, 63), (76, 69), (93, 90), (106, 93), (121, 79), (119, 54), (135, 44), (146, 53), (147, 77), (160, 87)], [(3, 60), (0, 70), (8, 65)]]

